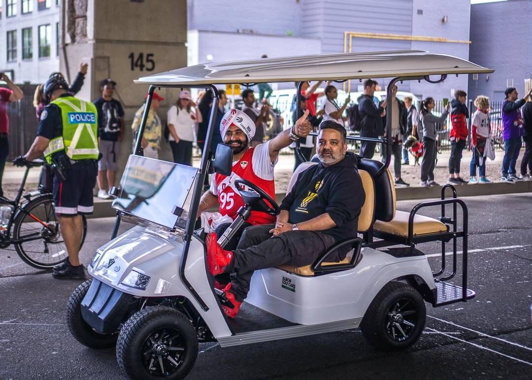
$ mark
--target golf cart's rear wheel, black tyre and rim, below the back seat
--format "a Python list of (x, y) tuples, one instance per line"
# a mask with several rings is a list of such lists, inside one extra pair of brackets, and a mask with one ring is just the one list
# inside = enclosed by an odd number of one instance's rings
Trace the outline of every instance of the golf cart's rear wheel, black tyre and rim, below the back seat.
[(376, 349), (398, 351), (418, 340), (426, 318), (421, 294), (410, 285), (394, 281), (373, 299), (360, 327)]

